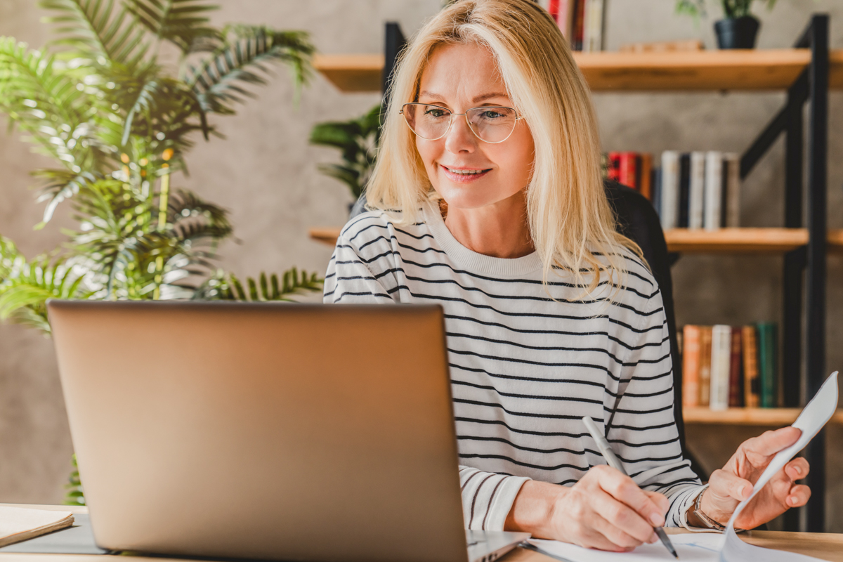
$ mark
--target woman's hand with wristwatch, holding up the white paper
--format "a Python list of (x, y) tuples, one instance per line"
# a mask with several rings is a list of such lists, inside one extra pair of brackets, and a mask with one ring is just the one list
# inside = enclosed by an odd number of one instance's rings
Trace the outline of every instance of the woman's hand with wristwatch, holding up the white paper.
[[(797, 442), (800, 435), (802, 431), (795, 427), (783, 427), (741, 443), (726, 466), (711, 474), (708, 490), (702, 496), (701, 510), (725, 525), (738, 503), (752, 494), (753, 484), (776, 453)], [(804, 506), (811, 497), (811, 490), (806, 485), (796, 484), (796, 480), (807, 474), (808, 461), (799, 457), (792, 459), (741, 511), (735, 527), (758, 527), (791, 507)]]

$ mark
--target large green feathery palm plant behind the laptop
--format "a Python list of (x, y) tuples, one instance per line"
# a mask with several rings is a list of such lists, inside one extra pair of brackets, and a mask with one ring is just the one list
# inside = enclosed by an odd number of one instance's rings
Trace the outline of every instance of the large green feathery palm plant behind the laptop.
[[(196, 136), (222, 137), (210, 115), (234, 115), (271, 65), (290, 68), (294, 103), (312, 75), (303, 31), (209, 25), (202, 0), (41, 0), (56, 39), (30, 49), (0, 37), (0, 111), (35, 151), (56, 161), (33, 172), (46, 203), (78, 222), (67, 243), (27, 260), (0, 236), (0, 319), (50, 335), (48, 298), (291, 300), (321, 289), (294, 268), (244, 282), (217, 265), (233, 236), (228, 212), (189, 190)], [(173, 61), (173, 62), (170, 62)], [(248, 287), (248, 289), (244, 288)], [(75, 465), (74, 465), (75, 466)], [(78, 473), (67, 501), (83, 504)]]

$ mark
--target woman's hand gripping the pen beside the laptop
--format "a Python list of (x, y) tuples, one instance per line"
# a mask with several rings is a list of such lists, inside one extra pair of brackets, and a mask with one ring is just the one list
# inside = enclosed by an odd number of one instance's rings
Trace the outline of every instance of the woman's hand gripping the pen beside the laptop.
[(668, 499), (642, 490), (615, 468), (595, 466), (573, 486), (524, 483), (504, 529), (526, 531), (592, 549), (615, 552), (658, 540)]

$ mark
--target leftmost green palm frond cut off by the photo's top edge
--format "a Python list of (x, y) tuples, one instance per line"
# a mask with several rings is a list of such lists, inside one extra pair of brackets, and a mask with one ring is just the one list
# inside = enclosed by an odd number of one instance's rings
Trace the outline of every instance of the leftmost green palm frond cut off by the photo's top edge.
[(126, 9), (115, 9), (114, 0), (40, 0), (40, 7), (58, 13), (46, 19), (62, 35), (53, 44), (70, 45), (100, 66), (135, 66), (149, 49), (144, 29), (133, 24)]

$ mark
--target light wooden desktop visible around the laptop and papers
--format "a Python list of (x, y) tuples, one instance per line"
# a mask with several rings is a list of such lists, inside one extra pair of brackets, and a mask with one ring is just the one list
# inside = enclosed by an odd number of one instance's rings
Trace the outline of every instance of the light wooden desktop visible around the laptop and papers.
[[(11, 504), (0, 504), (11, 505)], [(73, 506), (24, 506), (55, 511), (87, 513), (87, 507)], [(668, 534), (687, 533), (684, 529), (666, 528)], [(749, 531), (741, 533), (746, 542), (766, 549), (788, 550), (807, 554), (830, 562), (843, 562), (843, 534), (839, 533), (782, 533), (778, 531)], [(137, 557), (142, 558), (142, 557)], [(146, 559), (146, 558), (144, 558)], [(184, 559), (149, 558), (150, 562), (185, 562)], [(532, 550), (514, 549), (500, 559), (501, 562), (556, 562)], [(108, 554), (13, 554), (0, 553), (0, 562), (126, 562), (126, 556)]]

